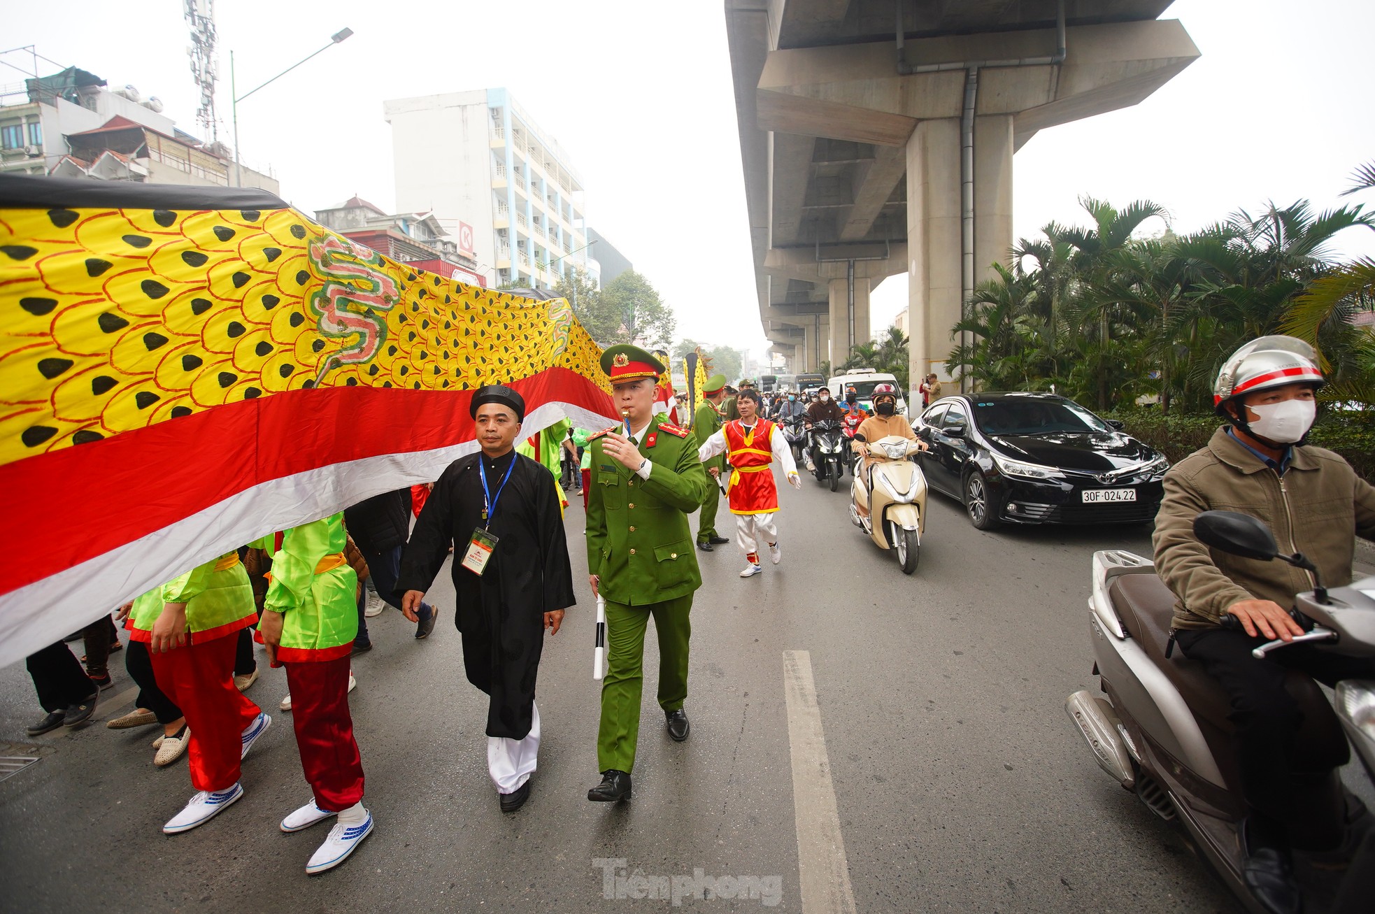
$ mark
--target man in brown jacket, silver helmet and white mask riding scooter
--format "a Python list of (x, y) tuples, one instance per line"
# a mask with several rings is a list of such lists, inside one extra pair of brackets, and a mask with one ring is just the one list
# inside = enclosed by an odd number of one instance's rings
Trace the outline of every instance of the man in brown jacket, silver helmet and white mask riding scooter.
[[(1282, 562), (1210, 550), (1194, 536), (1194, 518), (1213, 509), (1253, 514), (1275, 531), (1282, 550), (1310, 558), (1326, 586), (1350, 583), (1356, 535), (1375, 536), (1375, 487), (1339, 455), (1306, 444), (1323, 383), (1313, 349), (1301, 339), (1261, 337), (1232, 353), (1213, 386), (1214, 408), (1226, 425), (1166, 473), (1155, 518), (1155, 568), (1176, 595), (1172, 635), (1231, 700), (1248, 808), (1246, 881), (1272, 911), (1302, 907), (1291, 849), (1317, 855), (1314, 862), (1335, 855), (1339, 866), (1349, 840), (1335, 774), (1290, 766), (1302, 713), (1284, 689), (1284, 671), (1331, 686), (1375, 678), (1375, 660), (1310, 645), (1254, 658), (1251, 650), (1264, 642), (1302, 634), (1286, 608), (1313, 580)], [(1225, 616), (1244, 631), (1224, 628)]]

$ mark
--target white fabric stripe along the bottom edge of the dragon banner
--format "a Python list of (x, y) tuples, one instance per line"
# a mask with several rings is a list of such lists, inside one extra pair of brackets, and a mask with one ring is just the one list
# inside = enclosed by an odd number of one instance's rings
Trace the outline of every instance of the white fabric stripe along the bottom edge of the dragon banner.
[[(616, 419), (568, 403), (544, 403), (525, 415), (529, 437), (566, 416), (601, 429)], [(340, 429), (338, 434), (348, 434)], [(450, 463), (477, 451), (463, 441), (433, 451), (334, 463), (260, 482), (103, 555), (0, 595), (0, 667), (47, 647), (153, 587), (276, 531), (342, 511), (366, 498), (433, 482)], [(150, 491), (150, 498), (157, 492)], [(81, 518), (72, 518), (80, 524)]]

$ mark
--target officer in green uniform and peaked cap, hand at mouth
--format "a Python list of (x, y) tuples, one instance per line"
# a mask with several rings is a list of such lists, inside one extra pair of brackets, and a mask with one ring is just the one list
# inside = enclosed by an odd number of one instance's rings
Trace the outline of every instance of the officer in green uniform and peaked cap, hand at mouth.
[(701, 587), (688, 514), (701, 504), (708, 480), (696, 436), (653, 412), (663, 363), (619, 345), (602, 353), (601, 366), (624, 421), (588, 441), (587, 570), (593, 592), (606, 599), (609, 662), (597, 731), (602, 781), (587, 799), (612, 803), (630, 796), (650, 616), (659, 635), (659, 706), (668, 735), (688, 738), (688, 616)]

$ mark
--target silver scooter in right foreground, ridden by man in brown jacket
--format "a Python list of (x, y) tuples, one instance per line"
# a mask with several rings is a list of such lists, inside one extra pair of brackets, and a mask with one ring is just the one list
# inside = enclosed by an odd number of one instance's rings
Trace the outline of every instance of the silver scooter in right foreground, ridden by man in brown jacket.
[[(1317, 581), (1313, 564), (1304, 555), (1280, 554), (1270, 531), (1253, 517), (1204, 511), (1196, 518), (1194, 532), (1213, 548), (1288, 562), (1313, 573)], [(1306, 631), (1290, 643), (1312, 643), (1356, 657), (1375, 656), (1375, 577), (1331, 590), (1317, 581), (1313, 591), (1294, 599), (1295, 620)], [(1247, 910), (1264, 914), (1266, 909), (1243, 877), (1240, 825), (1246, 805), (1231, 744), (1232, 726), (1226, 720), (1228, 698), (1200, 664), (1180, 650), (1172, 651), (1173, 606), (1174, 594), (1155, 576), (1150, 559), (1116, 550), (1094, 553), (1089, 632), (1093, 672), (1106, 697), (1077, 691), (1066, 701), (1066, 711), (1099, 767), (1160, 819), (1181, 822), (1194, 847), (1232, 893)], [(1253, 653), (1264, 657), (1286, 646), (1283, 640), (1272, 640)], [(1339, 682), (1331, 704), (1302, 672), (1288, 672), (1286, 689), (1304, 712), (1297, 741), (1302, 757), (1294, 760), (1295, 767), (1330, 771), (1335, 779), (1336, 768), (1349, 757), (1349, 737), (1367, 774), (1375, 778), (1375, 680)], [(1348, 823), (1368, 826), (1364, 805), (1350, 796), (1346, 804)], [(1370, 911), (1372, 869), (1375, 830), (1348, 866), (1346, 884), (1335, 902), (1323, 899), (1331, 902), (1327, 910), (1348, 910), (1342, 909), (1345, 904), (1352, 911)], [(1326, 891), (1335, 889), (1326, 887)]]

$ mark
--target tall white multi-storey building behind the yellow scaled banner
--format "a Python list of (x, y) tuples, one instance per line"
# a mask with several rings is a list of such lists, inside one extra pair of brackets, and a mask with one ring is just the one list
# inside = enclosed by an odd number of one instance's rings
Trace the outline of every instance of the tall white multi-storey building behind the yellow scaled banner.
[(478, 272), (496, 286), (550, 289), (588, 252), (582, 177), (506, 89), (393, 99), (396, 208), (473, 227)]

